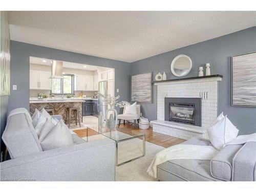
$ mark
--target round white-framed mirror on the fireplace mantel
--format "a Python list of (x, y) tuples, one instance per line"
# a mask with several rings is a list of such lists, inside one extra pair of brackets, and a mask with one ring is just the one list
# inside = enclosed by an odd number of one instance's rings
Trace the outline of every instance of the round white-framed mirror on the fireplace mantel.
[(192, 61), (187, 55), (178, 55), (172, 61), (170, 70), (177, 77), (185, 76), (192, 68)]

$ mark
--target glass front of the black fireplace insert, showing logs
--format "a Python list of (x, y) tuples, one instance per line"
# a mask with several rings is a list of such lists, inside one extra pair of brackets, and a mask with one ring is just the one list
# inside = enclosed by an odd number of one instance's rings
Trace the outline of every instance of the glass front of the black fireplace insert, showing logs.
[(169, 120), (187, 124), (195, 124), (195, 104), (170, 103)]

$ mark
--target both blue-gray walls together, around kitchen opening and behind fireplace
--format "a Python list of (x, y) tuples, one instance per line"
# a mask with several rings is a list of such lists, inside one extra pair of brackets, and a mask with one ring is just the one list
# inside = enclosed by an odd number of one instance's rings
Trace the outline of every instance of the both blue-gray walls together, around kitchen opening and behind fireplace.
[[(256, 27), (200, 42), (174, 51), (159, 54), (133, 62), (121, 62), (78, 53), (11, 41), (11, 85), (17, 84), (17, 91), (11, 91), (9, 111), (17, 107), (29, 108), (29, 56), (87, 63), (115, 68), (115, 91), (119, 89), (120, 100), (130, 100), (130, 74), (153, 71), (154, 75), (164, 72), (168, 79), (177, 78), (170, 73), (170, 62), (179, 54), (190, 56), (193, 68), (186, 77), (198, 75), (199, 66), (211, 63), (211, 74), (224, 76), (219, 83), (219, 113), (227, 114), (237, 125), (240, 134), (256, 132), (256, 108), (231, 106), (231, 56), (256, 51)], [(143, 116), (156, 119), (156, 87), (153, 88), (153, 103), (142, 104)]]

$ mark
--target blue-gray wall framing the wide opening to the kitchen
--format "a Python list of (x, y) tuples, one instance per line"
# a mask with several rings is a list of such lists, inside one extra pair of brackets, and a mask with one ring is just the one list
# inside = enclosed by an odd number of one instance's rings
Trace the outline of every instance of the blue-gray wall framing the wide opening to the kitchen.
[[(17, 84), (17, 90), (11, 90), (9, 111), (19, 107), (29, 109), (30, 56), (115, 68), (115, 95), (121, 96), (120, 101), (130, 99), (130, 63), (128, 62), (11, 41), (11, 86)], [(116, 89), (119, 89), (119, 93), (116, 93)]]

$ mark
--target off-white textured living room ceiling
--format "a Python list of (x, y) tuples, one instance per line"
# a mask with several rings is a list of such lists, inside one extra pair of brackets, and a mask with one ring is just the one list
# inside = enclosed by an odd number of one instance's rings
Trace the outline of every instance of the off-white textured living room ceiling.
[(256, 26), (256, 11), (10, 11), (12, 40), (133, 62)]

